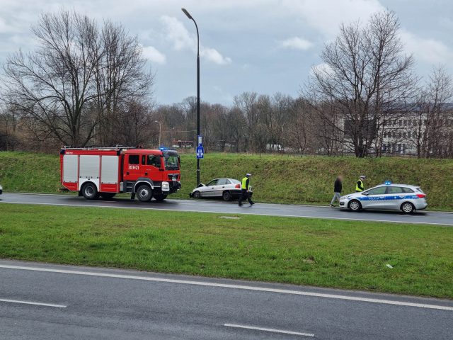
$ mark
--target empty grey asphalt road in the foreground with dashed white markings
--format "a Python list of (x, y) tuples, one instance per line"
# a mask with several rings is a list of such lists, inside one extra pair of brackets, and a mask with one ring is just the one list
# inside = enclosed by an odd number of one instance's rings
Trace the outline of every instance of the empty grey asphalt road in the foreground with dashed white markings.
[(452, 339), (453, 301), (0, 261), (0, 339)]

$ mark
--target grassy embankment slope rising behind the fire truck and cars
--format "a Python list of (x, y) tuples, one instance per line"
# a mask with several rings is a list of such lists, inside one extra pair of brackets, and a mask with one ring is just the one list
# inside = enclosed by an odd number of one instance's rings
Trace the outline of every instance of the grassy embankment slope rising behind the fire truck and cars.
[[(355, 190), (355, 181), (366, 174), (367, 187), (391, 179), (420, 185), (428, 193), (429, 208), (453, 210), (452, 159), (356, 159), (355, 157), (288, 157), (280, 155), (206, 154), (202, 182), (215, 177), (241, 179), (253, 173), (258, 202), (326, 205), (333, 180), (345, 175), (344, 192)], [(188, 198), (195, 186), (195, 157), (181, 156), (183, 189), (173, 198)], [(59, 185), (58, 155), (0, 152), (0, 183), (5, 191), (56, 193)]]

